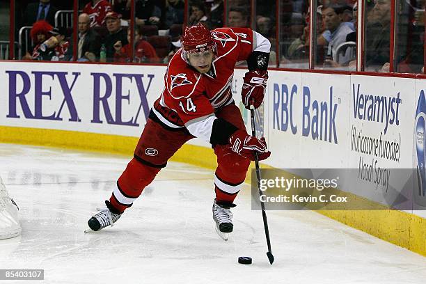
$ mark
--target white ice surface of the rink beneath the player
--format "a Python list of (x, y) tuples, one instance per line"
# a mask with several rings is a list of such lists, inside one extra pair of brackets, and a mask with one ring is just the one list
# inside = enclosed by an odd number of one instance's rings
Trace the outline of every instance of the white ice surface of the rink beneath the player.
[(21, 237), (0, 241), (0, 269), (45, 269), (42, 283), (61, 284), (425, 283), (426, 258), (309, 211), (267, 213), (269, 265), (248, 185), (224, 242), (212, 220), (213, 172), (187, 164), (169, 162), (116, 226), (85, 234), (128, 160), (0, 144), (0, 175), (22, 223)]

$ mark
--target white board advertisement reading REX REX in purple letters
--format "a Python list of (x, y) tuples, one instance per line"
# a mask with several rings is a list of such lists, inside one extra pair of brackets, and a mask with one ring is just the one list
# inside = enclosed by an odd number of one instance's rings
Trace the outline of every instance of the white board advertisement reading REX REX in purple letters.
[(0, 125), (139, 136), (164, 67), (2, 63)]

